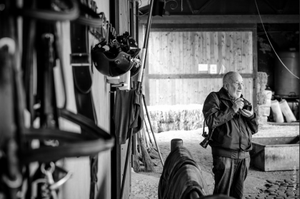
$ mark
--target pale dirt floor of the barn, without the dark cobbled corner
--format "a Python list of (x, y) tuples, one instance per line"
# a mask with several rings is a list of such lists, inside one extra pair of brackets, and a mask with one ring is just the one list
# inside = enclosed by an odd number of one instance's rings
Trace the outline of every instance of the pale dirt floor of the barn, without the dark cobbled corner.
[[(203, 170), (206, 184), (209, 186), (209, 194), (211, 194), (214, 189), (213, 173), (211, 172), (211, 148), (208, 147), (204, 149), (199, 146), (199, 143), (204, 139), (201, 134), (202, 128), (196, 131), (167, 131), (163, 133), (156, 133), (156, 141), (159, 143), (163, 159), (166, 160), (167, 155), (170, 153), (171, 140), (174, 138), (181, 138), (184, 146), (190, 150), (194, 159)], [(259, 126), (259, 133), (256, 133), (254, 137), (289, 137), (297, 135), (299, 135), (299, 123), (298, 126), (264, 124)], [(135, 173), (132, 170), (131, 199), (157, 198), (157, 188), (159, 185), (162, 166), (159, 159), (154, 159), (153, 161), (158, 165), (156, 167), (156, 172), (154, 173), (144, 173), (141, 171), (139, 173)], [(296, 166), (299, 168), (299, 163)], [(294, 180), (294, 170), (264, 172), (251, 166), (249, 169), (249, 175), (244, 184), (244, 196), (249, 197), (249, 195), (253, 196), (263, 194), (268, 186), (268, 182), (266, 180)], [(299, 170), (296, 170), (296, 181), (299, 183)], [(294, 196), (294, 198), (299, 198), (299, 187), (298, 196), (296, 196)]]

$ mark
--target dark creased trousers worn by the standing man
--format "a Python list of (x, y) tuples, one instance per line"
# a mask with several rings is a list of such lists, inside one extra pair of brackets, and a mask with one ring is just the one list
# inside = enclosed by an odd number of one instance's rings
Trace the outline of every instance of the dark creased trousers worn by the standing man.
[(233, 159), (213, 155), (214, 194), (224, 194), (237, 199), (243, 198), (244, 180), (249, 170), (250, 157)]

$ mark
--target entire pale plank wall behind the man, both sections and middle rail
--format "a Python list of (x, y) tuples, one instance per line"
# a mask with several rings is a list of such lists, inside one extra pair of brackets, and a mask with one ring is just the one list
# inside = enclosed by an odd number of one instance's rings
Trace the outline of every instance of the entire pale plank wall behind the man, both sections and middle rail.
[[(238, 71), (244, 78), (244, 97), (253, 103), (252, 31), (151, 31), (149, 37), (149, 105), (204, 103), (222, 86), (220, 76), (181, 78), (182, 74)], [(208, 64), (199, 71), (198, 64)], [(160, 75), (164, 77), (160, 78)], [(168, 77), (169, 76), (169, 77)]]

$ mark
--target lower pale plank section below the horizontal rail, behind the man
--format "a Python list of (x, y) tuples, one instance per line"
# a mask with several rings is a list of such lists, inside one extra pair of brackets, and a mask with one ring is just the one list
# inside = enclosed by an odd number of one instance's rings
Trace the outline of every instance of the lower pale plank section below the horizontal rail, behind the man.
[[(206, 96), (221, 86), (222, 78), (149, 79), (150, 105), (203, 104)], [(242, 94), (253, 103), (253, 78), (244, 78)]]

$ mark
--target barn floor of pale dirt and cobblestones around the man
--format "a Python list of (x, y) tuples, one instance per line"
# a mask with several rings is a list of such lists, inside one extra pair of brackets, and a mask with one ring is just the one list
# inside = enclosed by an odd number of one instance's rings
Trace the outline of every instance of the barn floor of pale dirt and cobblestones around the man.
[[(214, 178), (211, 172), (212, 157), (211, 148), (201, 148), (202, 132), (197, 131), (169, 131), (156, 134), (156, 140), (162, 157), (165, 160), (170, 152), (170, 143), (173, 138), (182, 138), (184, 146), (188, 148), (194, 159), (204, 171), (206, 183), (211, 194), (214, 188)], [(261, 126), (256, 137), (280, 137), (299, 135), (299, 126)], [(161, 167), (159, 159), (154, 162)], [(298, 163), (299, 165), (299, 163)], [(296, 173), (296, 174), (294, 174)], [(157, 198), (157, 188), (161, 172), (132, 173), (131, 175), (131, 199)], [(296, 179), (294, 179), (296, 176)], [(294, 182), (296, 181), (296, 183)], [(296, 190), (293, 192), (294, 185)], [(279, 170), (264, 172), (253, 166), (249, 168), (249, 174), (244, 183), (245, 199), (291, 199), (299, 198), (299, 170)], [(270, 189), (271, 188), (271, 189)], [(275, 190), (275, 191), (274, 191)], [(292, 191), (291, 191), (292, 190)], [(291, 194), (293, 193), (293, 194)], [(281, 198), (282, 197), (282, 198)]]

